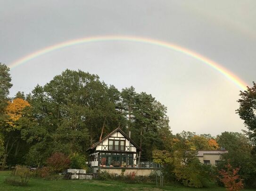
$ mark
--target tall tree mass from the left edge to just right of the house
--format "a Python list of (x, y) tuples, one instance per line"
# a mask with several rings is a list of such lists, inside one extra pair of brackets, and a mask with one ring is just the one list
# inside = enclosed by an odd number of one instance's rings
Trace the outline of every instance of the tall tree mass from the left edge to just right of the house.
[(141, 160), (160, 149), (159, 134), (169, 131), (167, 109), (152, 95), (133, 87), (118, 91), (99, 76), (66, 69), (44, 86), (27, 95), (17, 92), (8, 98), (12, 86), (6, 65), (1, 64), (2, 167), (15, 164), (45, 164), (52, 153), (81, 153), (120, 127), (132, 132), (132, 139), (144, 150)]

